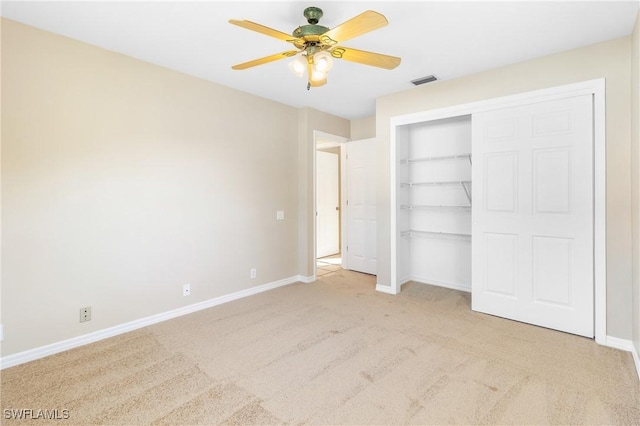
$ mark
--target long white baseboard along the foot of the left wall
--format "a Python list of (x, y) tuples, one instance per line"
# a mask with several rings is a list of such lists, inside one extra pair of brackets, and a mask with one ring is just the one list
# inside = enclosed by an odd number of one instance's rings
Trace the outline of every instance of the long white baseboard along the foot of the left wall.
[(63, 340), (61, 342), (51, 343), (49, 345), (40, 346), (38, 348), (29, 349), (17, 354), (8, 355), (0, 359), (0, 370), (13, 367), (15, 365), (24, 364), (25, 362), (34, 361), (36, 359), (44, 358), (49, 355), (64, 352), (69, 349), (84, 346), (89, 343), (94, 343), (99, 340), (103, 340), (109, 337), (117, 336), (119, 334), (127, 333), (129, 331), (137, 330), (142, 327), (147, 327), (152, 324), (156, 324), (162, 321), (177, 318), (183, 315), (191, 314), (203, 309), (211, 308), (223, 303), (231, 302), (233, 300), (242, 299), (244, 297), (253, 296), (254, 294), (262, 293), (274, 288), (282, 287), (295, 282), (312, 282), (309, 281), (310, 277), (294, 276), (285, 278), (279, 281), (273, 281), (267, 284), (259, 285), (257, 287), (248, 288), (246, 290), (237, 291), (235, 293), (227, 294), (224, 296), (215, 297), (213, 299), (205, 300), (203, 302), (194, 303), (193, 305), (183, 306), (178, 309), (174, 309), (161, 314), (152, 315), (146, 318), (141, 318), (135, 321), (130, 321), (124, 324), (119, 324), (114, 327), (105, 328), (104, 330), (95, 331), (93, 333), (84, 334), (82, 336), (73, 337), (71, 339)]

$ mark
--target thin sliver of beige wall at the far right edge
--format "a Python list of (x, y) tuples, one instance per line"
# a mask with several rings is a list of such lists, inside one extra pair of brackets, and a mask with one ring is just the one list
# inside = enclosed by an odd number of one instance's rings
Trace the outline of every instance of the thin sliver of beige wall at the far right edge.
[(640, 13), (631, 35), (631, 171), (633, 343), (640, 354)]

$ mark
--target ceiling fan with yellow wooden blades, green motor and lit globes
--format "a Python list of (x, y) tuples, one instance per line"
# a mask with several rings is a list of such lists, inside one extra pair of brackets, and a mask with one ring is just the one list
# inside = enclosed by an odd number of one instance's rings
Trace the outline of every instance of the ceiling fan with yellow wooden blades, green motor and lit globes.
[(302, 77), (304, 72), (307, 72), (308, 90), (311, 87), (318, 87), (327, 83), (327, 72), (333, 65), (333, 58), (385, 69), (393, 69), (400, 64), (400, 58), (396, 56), (338, 46), (338, 43), (387, 25), (387, 18), (378, 12), (367, 10), (332, 29), (318, 25), (318, 21), (322, 18), (322, 9), (318, 7), (306, 8), (304, 17), (307, 19), (308, 24), (296, 28), (291, 35), (255, 22), (230, 19), (229, 23), (233, 25), (286, 41), (298, 49), (265, 56), (264, 58), (234, 65), (231, 68), (244, 70), (295, 56), (296, 58), (289, 63), (289, 68), (298, 77)]

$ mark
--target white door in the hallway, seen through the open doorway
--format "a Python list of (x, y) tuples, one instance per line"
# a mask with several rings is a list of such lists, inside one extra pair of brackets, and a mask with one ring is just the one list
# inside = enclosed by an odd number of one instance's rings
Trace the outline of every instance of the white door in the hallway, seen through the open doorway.
[(317, 151), (316, 154), (316, 256), (325, 257), (340, 253), (338, 155), (324, 151)]

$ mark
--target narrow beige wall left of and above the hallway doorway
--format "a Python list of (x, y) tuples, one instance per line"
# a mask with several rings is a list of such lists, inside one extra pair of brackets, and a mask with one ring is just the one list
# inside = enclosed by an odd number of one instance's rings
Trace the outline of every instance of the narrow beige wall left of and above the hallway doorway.
[(350, 122), (313, 108), (298, 111), (298, 273), (311, 277), (314, 259), (314, 159), (313, 132), (319, 130), (348, 138)]

